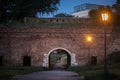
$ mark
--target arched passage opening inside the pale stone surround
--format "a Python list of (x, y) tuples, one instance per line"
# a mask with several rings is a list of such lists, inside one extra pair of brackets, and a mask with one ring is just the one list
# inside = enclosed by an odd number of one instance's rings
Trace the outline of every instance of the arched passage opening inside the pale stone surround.
[(56, 49), (49, 55), (50, 69), (66, 69), (71, 65), (70, 54), (62, 49)]

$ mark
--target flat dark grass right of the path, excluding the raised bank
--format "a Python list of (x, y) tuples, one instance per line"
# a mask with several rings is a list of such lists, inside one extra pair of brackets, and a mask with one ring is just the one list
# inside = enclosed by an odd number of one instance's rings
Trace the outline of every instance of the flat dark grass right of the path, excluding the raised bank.
[(79, 75), (85, 76), (85, 80), (120, 80), (120, 64), (109, 65), (108, 76), (103, 73), (103, 65), (70, 67), (67, 70), (77, 72)]

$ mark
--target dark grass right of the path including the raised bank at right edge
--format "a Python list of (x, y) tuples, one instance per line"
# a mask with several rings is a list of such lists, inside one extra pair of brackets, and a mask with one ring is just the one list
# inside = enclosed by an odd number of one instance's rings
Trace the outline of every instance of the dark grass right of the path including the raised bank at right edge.
[(74, 66), (67, 70), (85, 76), (85, 80), (120, 80), (120, 51), (108, 56), (108, 75), (104, 75), (104, 66), (101, 64), (89, 66)]

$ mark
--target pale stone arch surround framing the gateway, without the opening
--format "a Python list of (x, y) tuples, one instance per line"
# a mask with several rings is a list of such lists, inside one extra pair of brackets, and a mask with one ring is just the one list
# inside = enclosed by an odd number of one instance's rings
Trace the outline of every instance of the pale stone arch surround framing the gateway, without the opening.
[(76, 65), (78, 65), (77, 64), (77, 62), (76, 62), (76, 58), (75, 58), (75, 54), (74, 53), (71, 53), (68, 49), (66, 49), (66, 48), (62, 48), (62, 47), (58, 47), (58, 48), (54, 48), (54, 49), (52, 49), (52, 50), (50, 50), (49, 52), (48, 52), (48, 54), (44, 54), (44, 58), (43, 58), (43, 66), (44, 67), (49, 67), (49, 56), (50, 56), (50, 54), (53, 52), (53, 51), (55, 51), (55, 50), (58, 50), (58, 49), (60, 49), (60, 50), (64, 50), (64, 51), (66, 51), (69, 55), (70, 55), (70, 66), (76, 66)]

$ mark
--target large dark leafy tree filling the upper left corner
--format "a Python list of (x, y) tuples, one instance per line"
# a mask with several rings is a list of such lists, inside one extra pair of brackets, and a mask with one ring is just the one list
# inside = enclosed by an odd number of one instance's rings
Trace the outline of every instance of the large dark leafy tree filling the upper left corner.
[(22, 19), (36, 12), (50, 14), (58, 10), (60, 0), (0, 0), (1, 20)]

